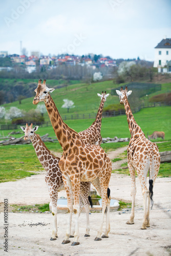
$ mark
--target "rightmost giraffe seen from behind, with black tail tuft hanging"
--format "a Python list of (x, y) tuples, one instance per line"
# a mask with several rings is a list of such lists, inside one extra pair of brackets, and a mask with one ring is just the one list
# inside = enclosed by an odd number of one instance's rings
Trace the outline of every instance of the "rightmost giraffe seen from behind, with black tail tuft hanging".
[[(131, 186), (131, 196), (132, 196), (132, 210), (129, 221), (126, 224), (134, 224), (134, 205), (135, 205), (135, 195), (136, 195), (136, 184), (135, 184), (135, 170), (137, 172), (141, 190), (143, 195), (143, 223), (141, 229), (146, 229), (149, 227), (149, 204), (150, 199), (153, 207), (153, 186), (157, 178), (159, 168), (160, 168), (160, 154), (158, 146), (146, 139), (144, 133), (142, 132), (140, 126), (136, 123), (134, 116), (132, 114), (129, 101), (127, 97), (132, 93), (132, 91), (127, 91), (127, 86), (125, 90), (121, 87), (120, 91), (116, 90), (119, 95), (120, 103), (124, 104), (127, 122), (129, 124), (129, 130), (131, 133), (131, 139), (129, 146), (127, 147), (127, 166), (129, 167), (132, 186)], [(146, 178), (149, 170), (149, 190), (146, 187)], [(148, 204), (147, 204), (148, 198)], [(147, 207), (146, 207), (147, 206)], [(147, 212), (146, 212), (147, 208)]]

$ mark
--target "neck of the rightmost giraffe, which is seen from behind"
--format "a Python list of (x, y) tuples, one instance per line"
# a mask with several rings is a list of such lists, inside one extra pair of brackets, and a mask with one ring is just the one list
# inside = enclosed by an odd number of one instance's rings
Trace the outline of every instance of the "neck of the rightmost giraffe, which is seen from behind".
[(136, 123), (136, 121), (134, 119), (133, 113), (130, 108), (129, 101), (127, 100), (127, 97), (125, 94), (123, 96), (123, 102), (124, 102), (125, 113), (127, 116), (127, 123), (129, 124), (129, 130), (132, 135), (138, 124)]

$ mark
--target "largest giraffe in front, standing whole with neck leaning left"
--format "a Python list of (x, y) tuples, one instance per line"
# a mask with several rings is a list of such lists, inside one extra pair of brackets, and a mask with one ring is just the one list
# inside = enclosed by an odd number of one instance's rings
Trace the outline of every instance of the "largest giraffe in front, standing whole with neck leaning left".
[[(49, 93), (53, 91), (54, 89), (49, 89), (46, 86), (46, 80), (44, 80), (42, 84), (41, 80), (39, 80), (38, 86), (35, 89), (36, 96), (33, 99), (33, 104), (37, 104), (39, 101), (45, 102), (54, 132), (63, 150), (63, 155), (59, 161), (59, 167), (62, 172), (62, 179), (67, 193), (69, 219), (67, 233), (62, 244), (70, 242), (69, 237), (71, 234), (73, 211), (75, 213), (75, 233), (72, 245), (79, 244), (79, 194), (81, 181), (91, 181), (102, 198), (102, 218), (95, 241), (101, 240), (100, 236), (102, 233), (105, 212), (106, 228), (102, 238), (108, 238), (108, 233), (110, 231), (109, 216), (111, 199), (108, 194), (108, 186), (112, 171), (111, 160), (100, 146), (85, 144), (78, 133), (63, 122)], [(74, 207), (72, 198), (74, 199)]]

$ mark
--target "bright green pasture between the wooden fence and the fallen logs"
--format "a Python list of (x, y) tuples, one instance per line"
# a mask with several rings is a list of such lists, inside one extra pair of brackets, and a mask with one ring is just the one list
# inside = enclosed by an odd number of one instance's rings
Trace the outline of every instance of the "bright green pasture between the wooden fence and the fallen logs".
[[(142, 131), (147, 136), (152, 134), (154, 131), (165, 132), (165, 140), (171, 140), (171, 108), (170, 106), (161, 106), (156, 108), (141, 109), (141, 111), (134, 114), (136, 122), (140, 125)], [(78, 119), (78, 120), (66, 120), (65, 122), (76, 132), (87, 129), (94, 119)], [(21, 131), (20, 129), (18, 131)], [(3, 131), (4, 135), (8, 135), (10, 130)], [(0, 133), (2, 133), (0, 131)], [(39, 127), (37, 133), (39, 135), (45, 135), (48, 133), (50, 136), (55, 136), (53, 127)], [(15, 137), (20, 137), (17, 135)], [(126, 115), (102, 118), (101, 136), (104, 137), (115, 137), (124, 138), (130, 137), (130, 131), (127, 124)], [(161, 140), (162, 139), (158, 139)]]

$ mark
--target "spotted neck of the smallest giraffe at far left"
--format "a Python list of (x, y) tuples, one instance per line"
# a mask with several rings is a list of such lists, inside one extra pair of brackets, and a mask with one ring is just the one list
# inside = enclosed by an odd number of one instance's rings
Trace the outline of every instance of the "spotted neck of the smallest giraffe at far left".
[(47, 169), (48, 161), (45, 161), (44, 156), (46, 155), (48, 157), (48, 155), (51, 154), (50, 151), (48, 150), (45, 143), (42, 142), (39, 135), (37, 135), (37, 134), (34, 134), (34, 137), (33, 137), (33, 139), (31, 139), (31, 142), (33, 144), (33, 147), (34, 147), (34, 150), (35, 150), (38, 160), (40, 161), (41, 165), (45, 169)]

